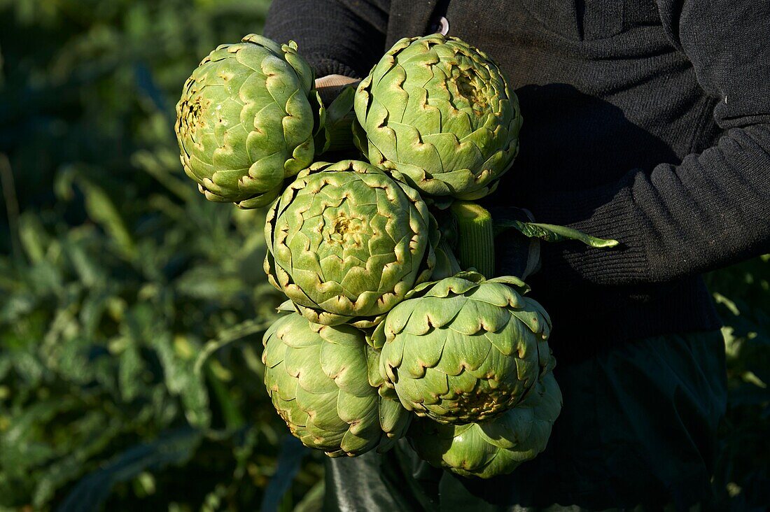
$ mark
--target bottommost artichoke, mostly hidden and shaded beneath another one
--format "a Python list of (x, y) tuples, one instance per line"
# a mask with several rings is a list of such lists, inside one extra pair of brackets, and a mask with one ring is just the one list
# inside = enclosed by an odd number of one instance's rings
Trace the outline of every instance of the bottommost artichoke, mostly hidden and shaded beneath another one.
[(490, 478), (511, 473), (541, 453), (560, 412), (561, 390), (548, 372), (522, 403), (494, 420), (465, 425), (416, 420), (408, 437), (417, 454), (434, 466)]

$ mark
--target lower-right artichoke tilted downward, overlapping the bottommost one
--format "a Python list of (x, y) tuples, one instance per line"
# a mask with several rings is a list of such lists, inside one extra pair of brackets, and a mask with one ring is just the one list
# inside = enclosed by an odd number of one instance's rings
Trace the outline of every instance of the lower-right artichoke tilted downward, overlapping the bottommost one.
[(417, 286), (372, 336), (380, 372), (408, 410), (439, 423), (517, 406), (551, 358), (551, 320), (515, 277), (459, 273)]

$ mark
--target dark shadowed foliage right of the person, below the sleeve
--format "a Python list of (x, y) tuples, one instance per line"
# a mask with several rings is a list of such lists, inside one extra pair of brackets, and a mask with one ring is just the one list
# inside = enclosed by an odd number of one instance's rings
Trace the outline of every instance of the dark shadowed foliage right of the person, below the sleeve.
[(770, 255), (711, 273), (725, 323), (728, 410), (715, 489), (721, 510), (770, 505)]

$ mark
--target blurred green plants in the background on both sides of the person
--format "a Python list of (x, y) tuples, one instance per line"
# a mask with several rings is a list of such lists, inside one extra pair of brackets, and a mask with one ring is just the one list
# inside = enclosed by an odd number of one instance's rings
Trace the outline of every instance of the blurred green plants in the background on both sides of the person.
[[(316, 510), (269, 403), (262, 211), (206, 202), (182, 82), (269, 0), (0, 0), (0, 510)], [(770, 504), (770, 260), (709, 276), (730, 406), (715, 489)]]

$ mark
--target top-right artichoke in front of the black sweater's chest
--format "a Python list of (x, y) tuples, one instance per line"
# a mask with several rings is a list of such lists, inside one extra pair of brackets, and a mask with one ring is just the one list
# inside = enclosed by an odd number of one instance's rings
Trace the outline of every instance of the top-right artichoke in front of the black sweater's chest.
[(401, 39), (358, 86), (355, 110), (370, 162), (429, 196), (487, 196), (518, 152), (516, 94), (457, 38)]

